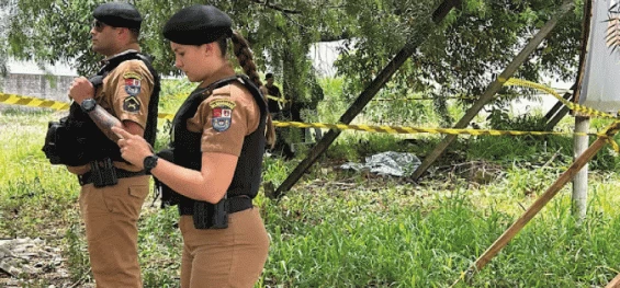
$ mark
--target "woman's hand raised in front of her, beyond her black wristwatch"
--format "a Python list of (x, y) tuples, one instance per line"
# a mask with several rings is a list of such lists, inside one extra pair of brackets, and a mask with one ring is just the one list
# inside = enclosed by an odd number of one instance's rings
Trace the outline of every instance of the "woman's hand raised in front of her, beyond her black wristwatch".
[(112, 127), (112, 131), (121, 139), (116, 145), (121, 148), (121, 157), (133, 165), (144, 169), (144, 159), (151, 155), (153, 148), (140, 136), (133, 135), (120, 127)]

